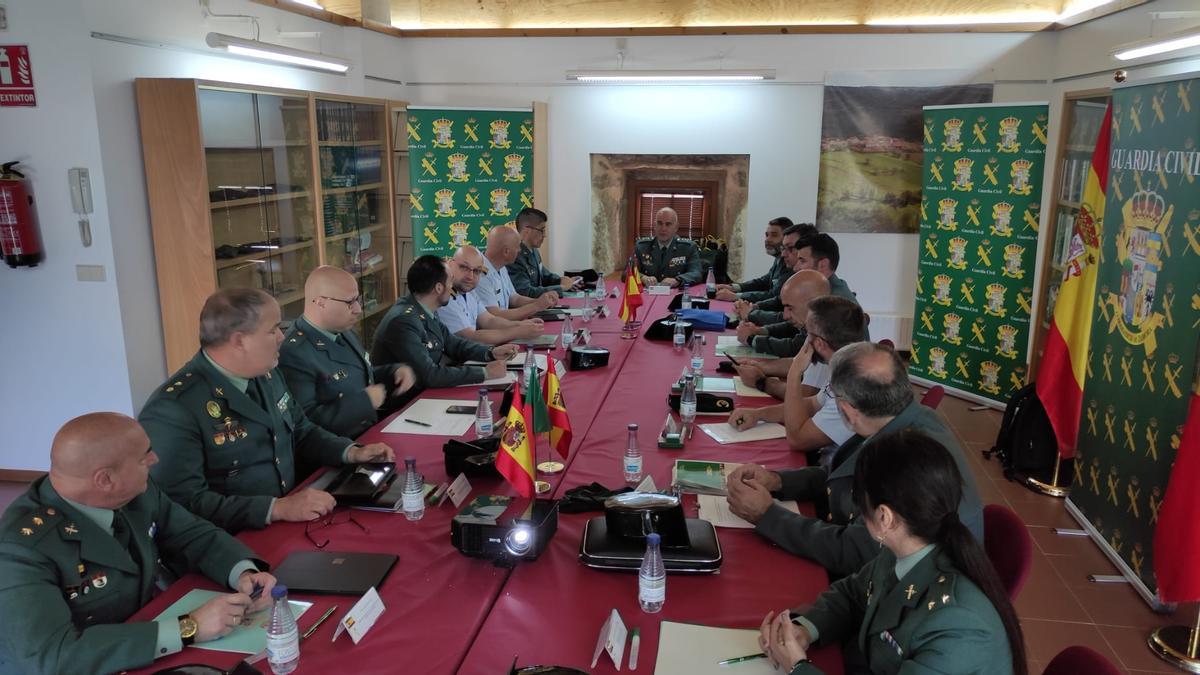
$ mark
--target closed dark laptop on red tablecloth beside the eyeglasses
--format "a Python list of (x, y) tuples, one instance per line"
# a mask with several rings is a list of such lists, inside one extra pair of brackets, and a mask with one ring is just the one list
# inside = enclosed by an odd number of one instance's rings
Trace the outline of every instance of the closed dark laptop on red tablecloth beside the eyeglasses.
[(361, 596), (378, 589), (397, 560), (392, 554), (295, 551), (272, 572), (288, 592)]

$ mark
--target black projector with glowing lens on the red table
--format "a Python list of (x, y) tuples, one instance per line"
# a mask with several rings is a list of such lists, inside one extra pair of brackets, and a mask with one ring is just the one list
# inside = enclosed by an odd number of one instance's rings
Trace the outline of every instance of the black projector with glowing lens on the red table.
[(508, 502), (496, 496), (472, 500), (450, 521), (450, 543), (463, 555), (502, 567), (536, 558), (558, 531), (558, 500), (533, 500), (515, 518), (504, 519)]

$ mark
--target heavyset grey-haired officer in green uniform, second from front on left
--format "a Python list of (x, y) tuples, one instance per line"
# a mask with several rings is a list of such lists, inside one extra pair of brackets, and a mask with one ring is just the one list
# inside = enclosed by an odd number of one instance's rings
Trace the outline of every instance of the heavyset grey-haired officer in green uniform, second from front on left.
[(280, 305), (257, 288), (227, 288), (200, 311), (200, 351), (146, 401), (138, 422), (161, 461), (154, 478), (192, 513), (238, 532), (305, 521), (334, 508), (320, 490), (288, 495), (317, 466), (395, 461), (313, 424), (276, 369)]

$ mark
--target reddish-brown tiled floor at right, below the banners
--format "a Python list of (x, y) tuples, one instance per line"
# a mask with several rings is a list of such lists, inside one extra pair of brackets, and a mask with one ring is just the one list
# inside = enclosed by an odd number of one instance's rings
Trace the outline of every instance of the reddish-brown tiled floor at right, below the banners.
[(1040, 674), (1056, 653), (1070, 645), (1092, 647), (1124, 673), (1181, 673), (1146, 647), (1146, 637), (1157, 626), (1194, 621), (1195, 607), (1159, 615), (1128, 584), (1090, 583), (1088, 574), (1117, 571), (1091, 539), (1060, 537), (1050, 531), (1056, 526), (1079, 527), (1063, 500), (1006, 480), (997, 460), (983, 459), (982, 452), (996, 440), (1001, 413), (972, 412), (972, 405), (947, 396), (938, 410), (966, 442), (967, 461), (984, 503), (1010, 507), (1033, 537), (1033, 567), (1016, 601), (1030, 673)]

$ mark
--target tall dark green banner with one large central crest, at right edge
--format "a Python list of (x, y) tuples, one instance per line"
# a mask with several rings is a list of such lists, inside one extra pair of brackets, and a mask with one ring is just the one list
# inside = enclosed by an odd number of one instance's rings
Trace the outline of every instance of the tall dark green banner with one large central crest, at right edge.
[(1150, 602), (1157, 591), (1154, 527), (1183, 434), (1200, 336), (1198, 142), (1196, 78), (1114, 90), (1068, 509)]

